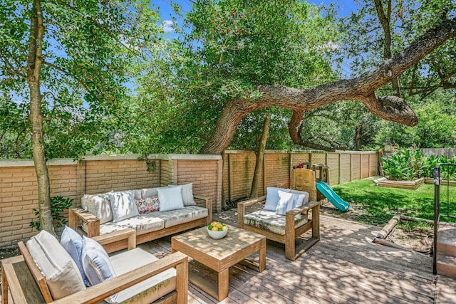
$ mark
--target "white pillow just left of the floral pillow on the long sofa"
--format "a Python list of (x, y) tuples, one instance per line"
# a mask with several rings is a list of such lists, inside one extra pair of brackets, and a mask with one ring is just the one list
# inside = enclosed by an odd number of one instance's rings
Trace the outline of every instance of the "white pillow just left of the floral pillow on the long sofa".
[(114, 223), (140, 215), (138, 206), (136, 206), (136, 200), (133, 197), (133, 192), (113, 192), (109, 194), (109, 199), (113, 209)]

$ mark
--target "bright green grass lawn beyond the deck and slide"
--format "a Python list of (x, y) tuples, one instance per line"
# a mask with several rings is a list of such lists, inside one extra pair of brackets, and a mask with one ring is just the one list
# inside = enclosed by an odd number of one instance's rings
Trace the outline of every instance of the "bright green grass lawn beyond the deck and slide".
[[(395, 189), (375, 186), (373, 179), (376, 178), (360, 179), (331, 187), (350, 203), (347, 216), (343, 217), (378, 226), (383, 226), (396, 214), (434, 219), (433, 184), (425, 184), (416, 190)], [(440, 208), (445, 213), (447, 201), (450, 202), (450, 215), (456, 216), (456, 187), (448, 188), (442, 185)], [(454, 221), (445, 217), (441, 220)]]

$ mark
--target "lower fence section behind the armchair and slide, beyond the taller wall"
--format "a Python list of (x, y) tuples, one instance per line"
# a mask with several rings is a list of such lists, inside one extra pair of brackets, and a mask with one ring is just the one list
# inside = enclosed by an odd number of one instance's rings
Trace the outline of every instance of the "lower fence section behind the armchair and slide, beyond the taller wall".
[[(249, 196), (255, 167), (255, 153), (225, 151), (223, 158), (224, 203), (238, 201)], [(325, 164), (329, 169), (329, 184), (343, 184), (356, 179), (372, 177), (377, 173), (377, 152), (321, 152), (321, 151), (266, 151), (261, 168), (259, 196), (265, 195), (266, 187), (291, 185), (291, 171), (300, 162)]]

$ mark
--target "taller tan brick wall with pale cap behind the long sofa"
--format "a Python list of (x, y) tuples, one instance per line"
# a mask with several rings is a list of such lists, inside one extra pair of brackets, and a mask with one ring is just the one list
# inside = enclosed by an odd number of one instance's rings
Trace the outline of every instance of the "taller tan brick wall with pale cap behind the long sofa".
[[(222, 209), (222, 158), (218, 155), (153, 154), (147, 170), (139, 155), (88, 156), (82, 162), (51, 159), (51, 196), (63, 196), (81, 206), (83, 194), (144, 189), (193, 182), (195, 194), (212, 197)], [(11, 248), (36, 234), (38, 186), (32, 160), (0, 160), (0, 248)]]

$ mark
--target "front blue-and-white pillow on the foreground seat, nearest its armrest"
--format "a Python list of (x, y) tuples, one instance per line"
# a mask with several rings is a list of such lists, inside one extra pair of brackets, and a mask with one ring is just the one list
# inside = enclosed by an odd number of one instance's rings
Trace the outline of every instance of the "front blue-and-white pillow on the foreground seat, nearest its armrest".
[[(97, 285), (106, 280), (115, 278), (115, 271), (108, 253), (106, 253), (103, 246), (97, 241), (93, 241), (86, 236), (83, 236), (83, 251), (81, 256), (81, 262), (83, 264), (84, 273), (90, 284)], [(108, 303), (116, 303), (117, 293), (111, 295), (109, 298), (105, 298)]]

